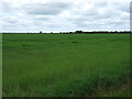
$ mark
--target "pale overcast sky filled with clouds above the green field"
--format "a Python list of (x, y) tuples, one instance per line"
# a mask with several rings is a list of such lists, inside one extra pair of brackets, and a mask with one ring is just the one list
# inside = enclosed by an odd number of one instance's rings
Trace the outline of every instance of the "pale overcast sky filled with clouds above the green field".
[(0, 32), (130, 30), (131, 0), (0, 0)]

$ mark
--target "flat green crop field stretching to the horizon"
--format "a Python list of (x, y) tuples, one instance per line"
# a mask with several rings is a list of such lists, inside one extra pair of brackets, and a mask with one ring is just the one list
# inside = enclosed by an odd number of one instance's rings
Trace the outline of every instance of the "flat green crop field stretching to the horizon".
[(129, 97), (130, 34), (3, 34), (3, 97)]

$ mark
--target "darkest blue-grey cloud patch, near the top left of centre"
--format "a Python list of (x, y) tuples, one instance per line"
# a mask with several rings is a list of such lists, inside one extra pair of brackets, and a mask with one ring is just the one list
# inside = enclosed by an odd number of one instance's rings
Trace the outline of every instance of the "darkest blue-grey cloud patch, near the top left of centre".
[(24, 10), (29, 14), (53, 15), (61, 13), (69, 6), (69, 3), (64, 2), (37, 3), (26, 4)]

